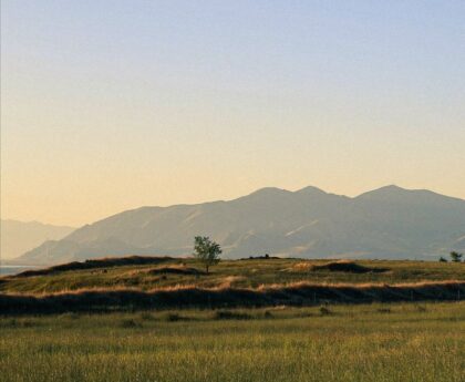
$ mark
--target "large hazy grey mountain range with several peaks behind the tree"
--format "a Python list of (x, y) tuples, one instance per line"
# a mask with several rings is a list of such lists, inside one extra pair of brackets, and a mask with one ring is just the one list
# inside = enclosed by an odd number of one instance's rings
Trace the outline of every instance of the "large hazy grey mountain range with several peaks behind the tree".
[(189, 255), (206, 235), (224, 257), (437, 259), (465, 242), (465, 200), (388, 186), (355, 198), (314, 187), (264, 188), (230, 202), (143, 207), (24, 254), (56, 264), (121, 255)]

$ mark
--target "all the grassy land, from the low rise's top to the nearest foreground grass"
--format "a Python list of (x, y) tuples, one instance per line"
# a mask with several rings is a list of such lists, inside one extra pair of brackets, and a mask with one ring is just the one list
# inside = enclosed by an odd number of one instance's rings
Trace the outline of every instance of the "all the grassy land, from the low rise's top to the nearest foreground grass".
[(0, 381), (465, 381), (463, 264), (128, 261), (1, 278)]

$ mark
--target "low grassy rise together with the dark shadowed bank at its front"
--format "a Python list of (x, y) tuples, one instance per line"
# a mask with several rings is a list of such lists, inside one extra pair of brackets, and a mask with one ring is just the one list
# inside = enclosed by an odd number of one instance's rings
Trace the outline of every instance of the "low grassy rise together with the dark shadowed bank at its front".
[(214, 260), (208, 273), (193, 258), (132, 256), (8, 276), (0, 278), (0, 312), (451, 301), (465, 296), (464, 264)]

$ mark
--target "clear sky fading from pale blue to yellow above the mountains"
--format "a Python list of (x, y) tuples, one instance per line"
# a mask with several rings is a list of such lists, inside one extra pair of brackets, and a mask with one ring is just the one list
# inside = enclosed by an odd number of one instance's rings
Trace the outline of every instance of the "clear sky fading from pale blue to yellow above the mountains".
[(465, 199), (465, 2), (1, 1), (1, 216), (265, 186)]

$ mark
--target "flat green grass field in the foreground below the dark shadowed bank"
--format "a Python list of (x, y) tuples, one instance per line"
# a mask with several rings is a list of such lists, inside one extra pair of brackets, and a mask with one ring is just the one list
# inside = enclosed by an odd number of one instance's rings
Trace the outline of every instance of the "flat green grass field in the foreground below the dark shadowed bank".
[(0, 380), (465, 376), (465, 302), (0, 318)]

